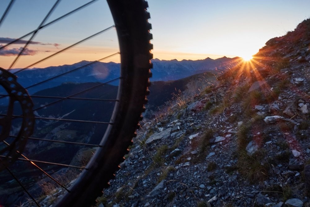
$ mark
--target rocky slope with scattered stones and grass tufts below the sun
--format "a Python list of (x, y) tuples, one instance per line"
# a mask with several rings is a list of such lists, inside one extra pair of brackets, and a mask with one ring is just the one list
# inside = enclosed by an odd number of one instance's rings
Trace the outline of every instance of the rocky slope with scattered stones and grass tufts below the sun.
[(310, 206), (310, 19), (141, 122), (102, 206)]

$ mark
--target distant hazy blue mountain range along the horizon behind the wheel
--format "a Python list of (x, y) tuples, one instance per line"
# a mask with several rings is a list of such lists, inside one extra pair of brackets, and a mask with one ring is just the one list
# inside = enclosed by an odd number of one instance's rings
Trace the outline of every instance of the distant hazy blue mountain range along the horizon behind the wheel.
[[(233, 67), (238, 63), (239, 57), (228, 58), (222, 57), (219, 59), (206, 58), (204, 60), (158, 60), (154, 59), (153, 62), (153, 77), (151, 81), (168, 81), (178, 80), (193, 74), (200, 74), (207, 71), (222, 71), (227, 67)], [(35, 83), (41, 82), (46, 79), (50, 79), (57, 75), (62, 75), (56, 79), (52, 79), (46, 83), (42, 83), (38, 86), (28, 89), (29, 93), (38, 92), (46, 88), (52, 88), (59, 86), (62, 83), (90, 83), (90, 82), (106, 82), (116, 79), (120, 76), (119, 73), (120, 64), (114, 62), (90, 62), (81, 61), (73, 65), (60, 65), (51, 66), (47, 68), (33, 68), (23, 70), (16, 75), (18, 76), (19, 83), (26, 87), (29, 87)], [(11, 70), (13, 73), (20, 69)], [(118, 81), (110, 83), (112, 85), (118, 85)]]

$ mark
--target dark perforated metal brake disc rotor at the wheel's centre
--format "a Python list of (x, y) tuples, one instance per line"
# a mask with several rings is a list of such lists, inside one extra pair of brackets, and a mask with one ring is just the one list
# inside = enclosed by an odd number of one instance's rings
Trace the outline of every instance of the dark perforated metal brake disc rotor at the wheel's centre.
[[(6, 90), (9, 97), (7, 113), (1, 114), (0, 118), (0, 142), (3, 147), (0, 150), (0, 171), (18, 159), (24, 151), (28, 137), (33, 133), (34, 115), (33, 102), (25, 88), (17, 83), (17, 77), (9, 71), (0, 68), (0, 85)], [(4, 98), (4, 97), (1, 97)], [(16, 104), (20, 105), (22, 115), (13, 115)], [(19, 132), (17, 135), (10, 134), (12, 119), (20, 117)], [(10, 138), (10, 142), (7, 142)], [(13, 141), (12, 141), (13, 140)]]

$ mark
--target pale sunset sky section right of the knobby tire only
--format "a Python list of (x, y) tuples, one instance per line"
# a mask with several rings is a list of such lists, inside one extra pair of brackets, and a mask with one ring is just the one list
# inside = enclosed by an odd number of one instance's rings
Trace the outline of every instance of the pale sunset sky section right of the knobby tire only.
[(154, 57), (253, 55), (310, 17), (309, 0), (149, 0)]

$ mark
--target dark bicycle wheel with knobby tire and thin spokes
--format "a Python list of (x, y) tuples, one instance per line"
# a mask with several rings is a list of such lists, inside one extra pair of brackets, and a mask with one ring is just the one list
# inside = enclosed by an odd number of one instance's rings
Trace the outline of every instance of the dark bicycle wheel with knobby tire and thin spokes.
[[(141, 113), (144, 111), (144, 104), (147, 101), (146, 96), (148, 95), (148, 86), (150, 84), (149, 77), (151, 77), (151, 73), (149, 69), (152, 68), (152, 64), (150, 62), (150, 59), (152, 58), (152, 54), (150, 53), (150, 50), (152, 49), (152, 44), (150, 44), (150, 39), (152, 39), (152, 35), (149, 33), (149, 30), (151, 29), (151, 25), (148, 23), (148, 19), (150, 18), (150, 16), (149, 16), (149, 13), (146, 11), (148, 4), (144, 0), (131, 0), (131, 1), (107, 0), (107, 3), (108, 3), (108, 6), (110, 8), (110, 11), (112, 13), (113, 20), (115, 23), (115, 28), (116, 28), (118, 42), (119, 42), (119, 53), (120, 53), (120, 59), (121, 59), (120, 77), (116, 78), (119, 80), (118, 88), (117, 88), (117, 95), (116, 95), (116, 98), (112, 100), (114, 101), (114, 105), (112, 107), (111, 118), (108, 122), (105, 123), (107, 124), (107, 127), (104, 132), (104, 135), (103, 134), (101, 136), (98, 135), (100, 143), (97, 145), (85, 143), (86, 146), (90, 145), (93, 147), (91, 148), (92, 150), (91, 152), (93, 152), (93, 150), (95, 149), (93, 156), (89, 160), (88, 164), (82, 168), (82, 173), (78, 175), (78, 178), (74, 181), (73, 185), (69, 189), (66, 189), (65, 187), (66, 184), (62, 184), (64, 189), (67, 190), (67, 192), (61, 197), (60, 200), (55, 201), (55, 206), (89, 206), (95, 201), (95, 199), (98, 196), (100, 196), (100, 194), (102, 193), (102, 189), (104, 187), (108, 187), (108, 181), (113, 178), (113, 173), (118, 169), (118, 164), (122, 162), (124, 159), (123, 155), (128, 152), (127, 148), (132, 143), (131, 141), (132, 137), (135, 136), (135, 129), (138, 126), (139, 120), (142, 119)], [(0, 20), (0, 24), (1, 24), (2, 19)], [(42, 22), (44, 23), (44, 21)], [(42, 25), (40, 25), (38, 28), (40, 27), (42, 27)], [(30, 39), (30, 41), (31, 40), (32, 39)], [(84, 66), (81, 66), (81, 67), (84, 67)], [(78, 69), (79, 68), (80, 67), (78, 67)], [(78, 70), (78, 69), (75, 68), (73, 70)], [(67, 74), (67, 72), (62, 73), (61, 75), (63, 74)], [(50, 79), (46, 79), (44, 81), (48, 82), (50, 81)], [(22, 97), (25, 97), (28, 99), (30, 97), (32, 99), (44, 97), (45, 98), (44, 101), (51, 97), (58, 101), (68, 100), (68, 99), (70, 101), (76, 101), (76, 100), (81, 100), (81, 99), (83, 101), (89, 101), (90, 99), (91, 100), (100, 99), (101, 97), (94, 98), (94, 97), (78, 97), (78, 96), (82, 92), (90, 93), (90, 91), (92, 91), (93, 93), (97, 93), (99, 91), (99, 88), (97, 88), (98, 86), (104, 86), (106, 87), (105, 89), (112, 90), (111, 88), (113, 87), (107, 84), (107, 83), (110, 83), (111, 81), (106, 81), (104, 83), (83, 83), (83, 85), (78, 90), (72, 89), (72, 93), (69, 96), (65, 95), (64, 97), (43, 96), (46, 90), (42, 91), (43, 95), (38, 92), (34, 92), (33, 94), (29, 92), (30, 95), (23, 93)], [(34, 84), (37, 84), (37, 83), (32, 83), (32, 85)], [(72, 86), (73, 83), (67, 83), (67, 82), (63, 83), (63, 85), (58, 86), (58, 87), (63, 87), (64, 85), (67, 88), (73, 87)], [(27, 87), (24, 87), (24, 88), (27, 88)], [(94, 91), (94, 90), (97, 90), (97, 91)], [(113, 88), (113, 90), (115, 90), (115, 88)], [(2, 95), (2, 97), (9, 96), (12, 100), (15, 100), (12, 98), (12, 95), (10, 95), (10, 93), (11, 91), (7, 92), (7, 95)], [(103, 98), (101, 99), (103, 100)], [(105, 98), (105, 101), (111, 101), (111, 99), (112, 98), (110, 99)], [(47, 104), (43, 104), (43, 106), (41, 104), (39, 108), (49, 108), (51, 103), (54, 103), (54, 102), (55, 101), (49, 102)], [(86, 103), (86, 106), (87, 104), (88, 103)], [(14, 106), (14, 108), (16, 108), (16, 105), (21, 105), (21, 104), (15, 101), (15, 105), (11, 104), (10, 106)], [(72, 106), (73, 107), (75, 106), (74, 103), (72, 104)], [(28, 107), (31, 107), (31, 106), (28, 105)], [(34, 109), (34, 111), (35, 110), (36, 109)], [(53, 111), (55, 111), (55, 108), (50, 109), (50, 110), (51, 110), (51, 113), (53, 113)], [(19, 108), (17, 107), (17, 110), (15, 111), (15, 113), (19, 113), (19, 112), (21, 113), (24, 111), (25, 109), (23, 107), (19, 107)], [(89, 113), (88, 109), (86, 109), (86, 112)], [(12, 114), (8, 115), (8, 114), (9, 113), (2, 114), (2, 116), (4, 117), (10, 116), (12, 117), (12, 119), (17, 117), (16, 120), (19, 117), (21, 118), (24, 117), (23, 115), (17, 116), (17, 115), (12, 115)], [(77, 121), (76, 118), (74, 119), (74, 116), (72, 117), (71, 119), (63, 119), (63, 118), (55, 119), (54, 118), (54, 119), (49, 119), (49, 120)], [(22, 121), (22, 123), (29, 124), (29, 122), (27, 121), (29, 121), (29, 119), (32, 117), (30, 116), (29, 118), (29, 116), (27, 116), (27, 118), (28, 119)], [(40, 117), (38, 117), (36, 114), (34, 115), (34, 118), (35, 118), (35, 121), (37, 121), (37, 119), (40, 119)], [(87, 120), (86, 123), (95, 125), (95, 124), (98, 124), (99, 121)], [(104, 122), (100, 122), (99, 124), (103, 124), (103, 123)], [(12, 123), (12, 125), (14, 125), (14, 123)], [(4, 125), (2, 125), (2, 128), (3, 126)], [(46, 133), (45, 132), (46, 130), (55, 131), (55, 129), (57, 128), (57, 127), (52, 128), (53, 126), (55, 126), (52, 124), (48, 126), (50, 128), (45, 127), (43, 130), (44, 133)], [(76, 128), (77, 127), (83, 127), (83, 124), (76, 126)], [(22, 128), (25, 129), (25, 127), (22, 127)], [(34, 128), (34, 130), (36, 129), (37, 128)], [(59, 130), (59, 128), (57, 129)], [(27, 138), (30, 135), (30, 132), (29, 130), (28, 131), (26, 130), (26, 132), (27, 132), (27, 136), (25, 136), (24, 134), (22, 135), (18, 134), (15, 137), (13, 136), (13, 138), (15, 139), (13, 139), (12, 136), (11, 137), (8, 136), (8, 138), (3, 139), (2, 141), (5, 141), (6, 143), (14, 143), (14, 140), (19, 141), (19, 142), (20, 140), (23, 140), (23, 141), (27, 140)], [(42, 128), (41, 128), (40, 133), (42, 133)], [(98, 139), (98, 136), (97, 136), (97, 139)], [(33, 137), (29, 137), (29, 139), (31, 138)], [(44, 141), (47, 141), (47, 140), (41, 139), (40, 142), (44, 142)], [(60, 141), (60, 143), (69, 144), (69, 142), (67, 141)], [(73, 144), (77, 144), (77, 143), (73, 143)], [(81, 143), (78, 143), (78, 144), (81, 144)], [(23, 145), (17, 143), (16, 146), (20, 146), (20, 148), (16, 149), (16, 148), (7, 146), (9, 149), (7, 149), (6, 151), (4, 151), (3, 154), (1, 154), (1, 164), (2, 164), (2, 168), (4, 168), (2, 172), (10, 168), (14, 168), (15, 170), (18, 170), (17, 168), (19, 168), (20, 166), (17, 165), (16, 163), (19, 160), (26, 160), (28, 162), (31, 162), (31, 164), (33, 165), (42, 163), (38, 160), (30, 159), (31, 158), (30, 156), (32, 154), (29, 154), (27, 156), (23, 155), (22, 154), (22, 148), (24, 147)], [(27, 144), (25, 146), (25, 149), (27, 151)], [(68, 149), (68, 151), (70, 150)], [(75, 153), (73, 154), (74, 155), (78, 154), (78, 151), (81, 152), (80, 148), (76, 148), (74, 151)], [(20, 159), (20, 158), (15, 158), (16, 157), (15, 156), (13, 158), (13, 156), (10, 154), (13, 152), (14, 152), (14, 155), (16, 154), (16, 155), (23, 156), (23, 157)], [(59, 155), (55, 153), (53, 155), (49, 155), (48, 157), (54, 158), (54, 157), (59, 157)], [(6, 159), (7, 161), (4, 161)], [(12, 162), (12, 160), (14, 161), (13, 164), (10, 163)], [(48, 162), (47, 161), (43, 161), (43, 162), (45, 162), (45, 164), (55, 164), (54, 162), (51, 162), (50, 160), (48, 160)], [(62, 164), (62, 163), (58, 163), (58, 164), (61, 164), (61, 166), (65, 166), (68, 168), (76, 167), (76, 166), (72, 166), (69, 164)], [(13, 170), (10, 170), (9, 172), (11, 171)], [(31, 176), (29, 177), (31, 178)], [(18, 179), (16, 178), (16, 180)], [(29, 194), (29, 192), (27, 193)]]

